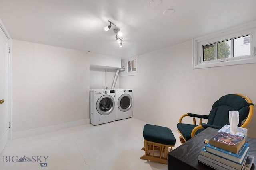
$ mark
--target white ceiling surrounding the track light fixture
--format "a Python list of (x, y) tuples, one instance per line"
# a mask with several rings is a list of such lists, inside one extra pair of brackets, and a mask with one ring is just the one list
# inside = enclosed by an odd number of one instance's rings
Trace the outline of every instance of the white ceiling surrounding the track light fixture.
[[(256, 20), (256, 0), (162, 0), (156, 6), (150, 2), (0, 0), (0, 19), (12, 39), (121, 58)], [(164, 15), (167, 9), (172, 10)], [(104, 31), (108, 20), (122, 31), (122, 47), (112, 28)]]

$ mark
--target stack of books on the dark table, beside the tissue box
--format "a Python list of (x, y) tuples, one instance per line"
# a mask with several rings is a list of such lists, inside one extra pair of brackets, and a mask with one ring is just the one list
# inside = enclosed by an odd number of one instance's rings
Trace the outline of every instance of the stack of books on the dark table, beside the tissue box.
[(236, 135), (221, 129), (201, 150), (198, 161), (217, 170), (250, 169), (254, 156), (248, 155), (246, 137), (247, 131), (246, 135)]

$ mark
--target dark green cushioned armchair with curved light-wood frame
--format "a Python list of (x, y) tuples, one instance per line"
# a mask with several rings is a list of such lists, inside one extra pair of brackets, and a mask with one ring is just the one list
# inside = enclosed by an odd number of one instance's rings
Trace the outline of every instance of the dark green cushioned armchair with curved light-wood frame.
[[(220, 129), (226, 124), (229, 125), (228, 111), (238, 111), (238, 127), (246, 128), (252, 119), (253, 109), (254, 105), (252, 101), (244, 94), (228, 94), (222, 96), (212, 105), (209, 115), (186, 113), (180, 117), (179, 123), (177, 124), (178, 132), (181, 135), (180, 142), (184, 143), (188, 141), (207, 127)], [(193, 124), (182, 123), (182, 119), (186, 116), (193, 118)], [(196, 118), (199, 119), (199, 124), (196, 124)], [(202, 119), (208, 119), (207, 124), (202, 123)]]

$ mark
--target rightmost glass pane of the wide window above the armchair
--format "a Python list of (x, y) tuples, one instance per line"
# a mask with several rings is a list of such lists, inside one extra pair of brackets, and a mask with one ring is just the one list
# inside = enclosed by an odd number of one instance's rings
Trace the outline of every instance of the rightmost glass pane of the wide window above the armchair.
[(250, 55), (250, 35), (234, 39), (234, 57), (244, 55)]

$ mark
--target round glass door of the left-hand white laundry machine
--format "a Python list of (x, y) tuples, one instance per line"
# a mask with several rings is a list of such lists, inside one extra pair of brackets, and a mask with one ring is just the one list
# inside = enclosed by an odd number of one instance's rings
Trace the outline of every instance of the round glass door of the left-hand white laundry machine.
[(101, 96), (97, 103), (96, 109), (101, 115), (109, 115), (115, 108), (114, 98), (110, 95)]

